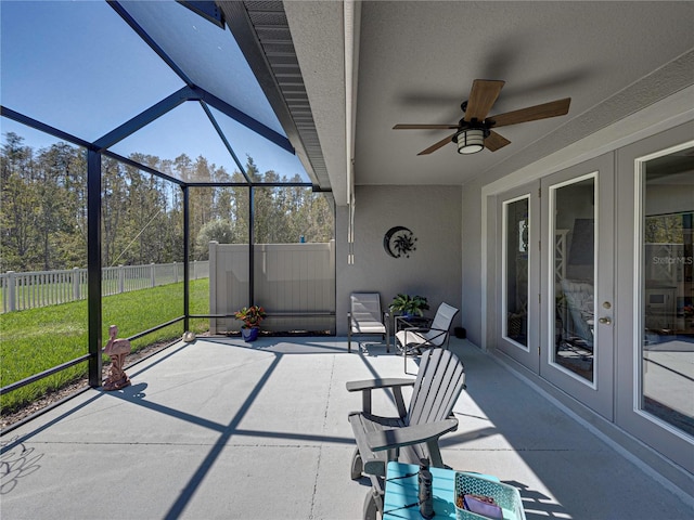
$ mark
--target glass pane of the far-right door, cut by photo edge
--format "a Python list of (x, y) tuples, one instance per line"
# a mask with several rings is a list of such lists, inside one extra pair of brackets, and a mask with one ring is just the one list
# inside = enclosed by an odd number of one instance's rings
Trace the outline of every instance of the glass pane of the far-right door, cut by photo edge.
[(694, 147), (644, 161), (641, 194), (639, 405), (694, 437)]

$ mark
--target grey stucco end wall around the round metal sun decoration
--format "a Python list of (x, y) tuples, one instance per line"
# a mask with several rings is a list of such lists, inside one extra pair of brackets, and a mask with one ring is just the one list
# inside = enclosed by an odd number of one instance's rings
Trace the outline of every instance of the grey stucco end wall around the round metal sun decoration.
[[(337, 208), (336, 295), (337, 335), (347, 334), (349, 294), (378, 291), (387, 306), (398, 292), (426, 296), (434, 315), (442, 301), (461, 307), (461, 187), (357, 186), (355, 263), (347, 263), (346, 207)], [(479, 218), (477, 218), (479, 221)], [(393, 258), (383, 247), (396, 225), (417, 238), (410, 258)], [(459, 314), (453, 326), (464, 323)]]

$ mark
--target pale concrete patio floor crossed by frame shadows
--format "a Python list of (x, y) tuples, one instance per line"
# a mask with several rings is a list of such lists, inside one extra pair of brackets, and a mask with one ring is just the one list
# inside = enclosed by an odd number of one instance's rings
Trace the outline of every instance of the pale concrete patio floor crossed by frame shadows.
[[(403, 376), (346, 338), (201, 338), (0, 438), (0, 515), (13, 519), (359, 519), (345, 382)], [(694, 502), (472, 343), (444, 460), (517, 486), (528, 519), (691, 519)], [(408, 361), (411, 375), (416, 370)], [(395, 410), (382, 392), (374, 412)]]

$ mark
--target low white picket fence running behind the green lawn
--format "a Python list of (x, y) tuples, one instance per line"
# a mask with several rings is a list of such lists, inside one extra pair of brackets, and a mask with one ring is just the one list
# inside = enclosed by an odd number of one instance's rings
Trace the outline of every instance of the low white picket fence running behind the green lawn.
[[(191, 280), (209, 277), (209, 261), (191, 262)], [(146, 289), (183, 281), (183, 262), (118, 265), (101, 270), (102, 296)], [(87, 270), (0, 274), (2, 312), (67, 303), (87, 298)]]

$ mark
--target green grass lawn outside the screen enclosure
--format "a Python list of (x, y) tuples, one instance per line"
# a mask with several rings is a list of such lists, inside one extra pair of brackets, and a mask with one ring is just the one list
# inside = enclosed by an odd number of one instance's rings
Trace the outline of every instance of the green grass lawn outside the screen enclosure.
[[(191, 282), (191, 313), (209, 313), (209, 280)], [(118, 337), (127, 338), (183, 315), (183, 284), (170, 284), (134, 290), (102, 299), (103, 342), (108, 326), (118, 326)], [(208, 320), (191, 320), (191, 329), (202, 333)], [(170, 325), (132, 341), (140, 350), (183, 334), (183, 322)], [(87, 301), (43, 307), (0, 314), (0, 386), (47, 370), (88, 352)], [(108, 356), (104, 356), (107, 361)], [(62, 370), (2, 395), (0, 411), (11, 411), (34, 401), (47, 391), (87, 374), (87, 362)]]

